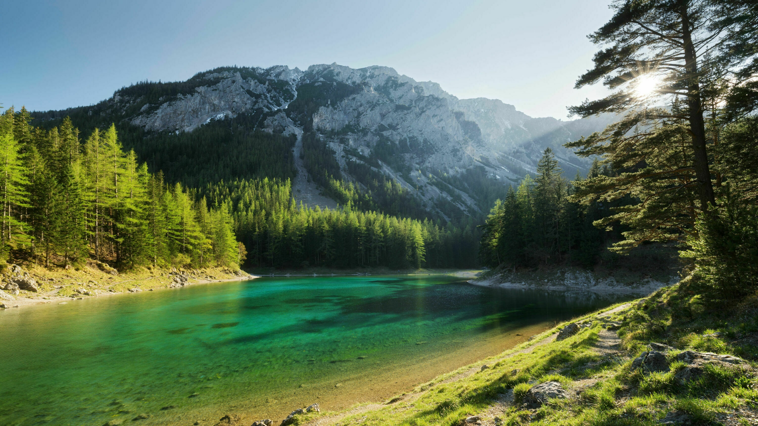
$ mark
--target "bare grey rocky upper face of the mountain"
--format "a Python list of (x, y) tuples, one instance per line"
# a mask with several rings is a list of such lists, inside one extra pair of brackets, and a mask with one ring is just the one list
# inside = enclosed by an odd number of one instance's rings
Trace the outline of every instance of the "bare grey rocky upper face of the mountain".
[(343, 178), (356, 181), (349, 161), (365, 163), (414, 189), (431, 208), (444, 199), (467, 213), (489, 206), (456, 180), (460, 176), (478, 169), (503, 184), (518, 182), (535, 172), (547, 147), (569, 176), (586, 173), (589, 161), (562, 144), (610, 121), (533, 118), (497, 99), (456, 98), (435, 82), (417, 82), (390, 67), (337, 64), (305, 71), (221, 67), (186, 82), (144, 82), (118, 90), (92, 113), (115, 115), (146, 132), (192, 132), (240, 114), (268, 132), (317, 132)]

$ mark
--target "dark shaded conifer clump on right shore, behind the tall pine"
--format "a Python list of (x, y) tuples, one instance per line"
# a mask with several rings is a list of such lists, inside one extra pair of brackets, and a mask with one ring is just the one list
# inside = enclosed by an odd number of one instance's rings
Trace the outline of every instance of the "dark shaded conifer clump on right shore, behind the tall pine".
[[(611, 169), (600, 169), (596, 162), (590, 177), (613, 176)], [(515, 269), (576, 261), (590, 268), (597, 262), (606, 239), (618, 238), (619, 232), (600, 231), (594, 222), (611, 213), (609, 205), (590, 202), (582, 205), (568, 196), (575, 185), (583, 185), (581, 176), (567, 182), (553, 152), (547, 148), (537, 168), (537, 178), (527, 176), (514, 191), (509, 188), (505, 201), (497, 201), (483, 226), (480, 260), (487, 266)], [(622, 205), (625, 200), (611, 205)]]

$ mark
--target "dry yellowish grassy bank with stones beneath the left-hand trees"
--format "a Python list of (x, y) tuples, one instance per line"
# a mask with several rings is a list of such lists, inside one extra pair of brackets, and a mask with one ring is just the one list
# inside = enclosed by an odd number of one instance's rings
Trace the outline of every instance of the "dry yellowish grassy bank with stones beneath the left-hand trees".
[[(230, 268), (161, 269), (137, 267), (118, 272), (103, 264), (89, 260), (79, 268), (45, 268), (34, 264), (8, 266), (2, 272), (3, 288), (14, 277), (28, 276), (36, 281), (37, 291), (20, 288), (17, 295), (10, 291), (13, 300), (0, 300), (6, 307), (36, 303), (62, 303), (84, 297), (102, 297), (124, 292), (150, 291), (171, 286), (192, 285), (213, 281), (230, 281), (249, 278), (246, 272)], [(14, 272), (15, 270), (15, 272)]]

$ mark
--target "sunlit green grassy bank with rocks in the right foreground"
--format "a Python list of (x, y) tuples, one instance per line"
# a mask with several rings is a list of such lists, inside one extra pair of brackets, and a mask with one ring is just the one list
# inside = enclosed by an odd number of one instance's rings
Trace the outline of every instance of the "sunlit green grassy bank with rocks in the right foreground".
[[(755, 298), (707, 309), (683, 285), (662, 288), (575, 319), (580, 331), (565, 340), (555, 337), (566, 323), (384, 404), (296, 415), (295, 424), (756, 424), (756, 313)], [(631, 368), (653, 342), (675, 348), (666, 353), (670, 371)], [(702, 375), (682, 382), (676, 374), (687, 365), (675, 359), (683, 350), (745, 361), (706, 366)], [(568, 398), (525, 406), (531, 387), (548, 381), (559, 382)]]

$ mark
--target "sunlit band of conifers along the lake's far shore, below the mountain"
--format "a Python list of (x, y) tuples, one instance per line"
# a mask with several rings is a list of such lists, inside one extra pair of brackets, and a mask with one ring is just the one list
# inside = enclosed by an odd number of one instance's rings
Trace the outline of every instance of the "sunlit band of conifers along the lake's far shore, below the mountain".
[(251, 266), (465, 267), (466, 230), (376, 211), (296, 206), (290, 182), (239, 180), (206, 185), (209, 206), (228, 206)]

